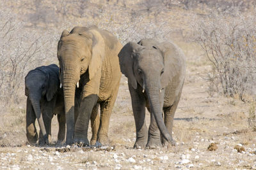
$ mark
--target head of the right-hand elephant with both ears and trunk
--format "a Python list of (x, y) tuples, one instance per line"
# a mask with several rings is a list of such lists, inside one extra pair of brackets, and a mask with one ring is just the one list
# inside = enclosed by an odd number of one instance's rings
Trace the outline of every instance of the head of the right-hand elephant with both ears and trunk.
[[(164, 45), (152, 39), (141, 40), (139, 43), (127, 43), (118, 54), (120, 68), (128, 78), (129, 85), (147, 93), (150, 112), (156, 119), (157, 126), (164, 138), (172, 141), (164, 125), (161, 100), (164, 88), (172, 81), (174, 73), (172, 62), (168, 61), (168, 50)], [(163, 103), (163, 102), (162, 102)]]

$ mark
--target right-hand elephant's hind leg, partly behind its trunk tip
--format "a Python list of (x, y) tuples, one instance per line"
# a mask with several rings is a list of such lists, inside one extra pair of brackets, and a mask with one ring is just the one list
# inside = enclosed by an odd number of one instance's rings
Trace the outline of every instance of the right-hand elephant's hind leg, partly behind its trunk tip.
[[(179, 93), (179, 96), (174, 101), (172, 106), (163, 109), (163, 111), (164, 111), (164, 124), (166, 125), (166, 128), (168, 129), (168, 132), (171, 135), (171, 137), (172, 137), (173, 118), (174, 118), (175, 111), (177, 110), (177, 106), (179, 104), (179, 101), (180, 101), (180, 94), (181, 94), (181, 92)], [(169, 145), (168, 141), (166, 141), (166, 139), (164, 139), (163, 137), (161, 137), (161, 141), (162, 141), (163, 146), (168, 146)], [(175, 145), (175, 141), (173, 139), (172, 139), (171, 145)]]

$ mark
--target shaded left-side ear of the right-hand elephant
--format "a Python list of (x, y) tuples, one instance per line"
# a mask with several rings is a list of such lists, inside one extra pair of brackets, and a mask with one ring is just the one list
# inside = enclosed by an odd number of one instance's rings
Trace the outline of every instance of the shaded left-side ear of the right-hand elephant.
[(128, 78), (128, 82), (133, 89), (137, 89), (137, 80), (133, 72), (133, 56), (132, 53), (139, 52), (143, 48), (134, 42), (127, 43), (118, 53), (121, 72)]

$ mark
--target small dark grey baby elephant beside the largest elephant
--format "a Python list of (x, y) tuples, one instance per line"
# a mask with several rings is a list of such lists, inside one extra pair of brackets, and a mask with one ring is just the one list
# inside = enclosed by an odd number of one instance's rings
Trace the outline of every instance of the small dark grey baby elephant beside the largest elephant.
[[(58, 141), (65, 139), (65, 111), (63, 89), (60, 89), (59, 67), (56, 64), (36, 67), (25, 78), (26, 131), (28, 142), (35, 145), (38, 140), (35, 120), (40, 126), (39, 145), (48, 145), (51, 139), (53, 114), (58, 115)], [(42, 114), (41, 114), (42, 113)]]

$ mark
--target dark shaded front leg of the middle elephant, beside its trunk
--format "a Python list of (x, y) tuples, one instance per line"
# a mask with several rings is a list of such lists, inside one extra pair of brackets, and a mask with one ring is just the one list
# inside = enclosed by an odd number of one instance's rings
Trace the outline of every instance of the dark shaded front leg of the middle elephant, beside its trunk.
[(96, 94), (90, 94), (82, 99), (79, 107), (79, 114), (77, 116), (75, 125), (75, 143), (83, 143), (85, 146), (89, 146), (88, 141), (88, 125), (92, 113), (92, 109), (97, 103), (98, 96)]

